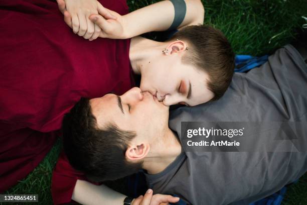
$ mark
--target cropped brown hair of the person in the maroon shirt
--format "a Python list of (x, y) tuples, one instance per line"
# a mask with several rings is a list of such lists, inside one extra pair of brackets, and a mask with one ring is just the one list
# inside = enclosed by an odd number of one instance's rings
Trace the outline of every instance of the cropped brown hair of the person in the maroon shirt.
[(223, 96), (234, 72), (235, 54), (224, 34), (211, 26), (188, 26), (177, 32), (171, 40), (186, 40), (189, 50), (182, 58), (209, 75), (208, 89), (214, 93), (212, 100)]

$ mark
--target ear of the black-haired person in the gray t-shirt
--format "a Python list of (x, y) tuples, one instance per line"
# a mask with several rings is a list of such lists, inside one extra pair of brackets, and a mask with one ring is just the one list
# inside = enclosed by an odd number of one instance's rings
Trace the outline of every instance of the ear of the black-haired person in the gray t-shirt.
[(147, 143), (140, 143), (139, 145), (129, 146), (126, 150), (125, 156), (131, 161), (144, 159), (150, 150)]

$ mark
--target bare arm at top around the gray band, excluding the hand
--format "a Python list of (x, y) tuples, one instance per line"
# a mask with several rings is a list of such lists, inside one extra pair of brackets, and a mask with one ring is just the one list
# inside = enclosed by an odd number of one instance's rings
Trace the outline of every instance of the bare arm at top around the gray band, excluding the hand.
[[(199, 0), (185, 0), (187, 12), (178, 29), (190, 25), (203, 24), (204, 7)], [(151, 31), (165, 31), (174, 21), (175, 10), (171, 1), (156, 4), (133, 11), (123, 16), (128, 37), (138, 36)]]

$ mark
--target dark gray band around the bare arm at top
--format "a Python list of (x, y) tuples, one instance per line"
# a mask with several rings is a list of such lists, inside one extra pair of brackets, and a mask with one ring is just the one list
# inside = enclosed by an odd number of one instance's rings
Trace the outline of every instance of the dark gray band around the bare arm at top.
[(168, 29), (168, 31), (177, 29), (180, 24), (183, 22), (187, 12), (187, 6), (184, 0), (170, 0), (175, 8), (175, 17), (173, 24)]

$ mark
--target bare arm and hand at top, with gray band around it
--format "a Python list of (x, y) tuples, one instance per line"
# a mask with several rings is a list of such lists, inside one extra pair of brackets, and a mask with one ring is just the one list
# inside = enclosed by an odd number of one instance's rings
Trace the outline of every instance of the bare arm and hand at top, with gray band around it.
[[(185, 18), (178, 29), (203, 24), (205, 10), (201, 1), (186, 0), (186, 6)], [(170, 1), (152, 4), (124, 16), (108, 11), (116, 17), (116, 20), (106, 20), (99, 15), (89, 17), (101, 28), (99, 35), (101, 38), (127, 39), (151, 31), (165, 31), (170, 28), (175, 16), (174, 6)]]

